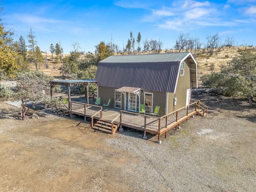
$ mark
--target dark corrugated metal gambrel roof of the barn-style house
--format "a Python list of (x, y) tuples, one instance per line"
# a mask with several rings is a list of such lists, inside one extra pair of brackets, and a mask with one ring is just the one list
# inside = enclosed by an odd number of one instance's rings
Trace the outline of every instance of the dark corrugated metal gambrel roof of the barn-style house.
[(141, 90), (174, 93), (180, 63), (185, 59), (196, 64), (189, 52), (110, 56), (98, 63), (95, 80), (98, 86), (104, 87), (134, 87)]

